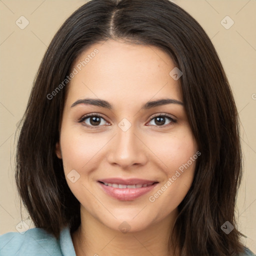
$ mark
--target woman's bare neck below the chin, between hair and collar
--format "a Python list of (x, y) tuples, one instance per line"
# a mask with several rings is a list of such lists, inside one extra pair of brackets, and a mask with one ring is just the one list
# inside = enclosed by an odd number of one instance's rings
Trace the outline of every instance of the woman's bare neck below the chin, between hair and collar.
[(76, 256), (172, 256), (168, 238), (174, 215), (140, 231), (121, 232), (107, 227), (81, 206), (81, 224), (71, 234)]

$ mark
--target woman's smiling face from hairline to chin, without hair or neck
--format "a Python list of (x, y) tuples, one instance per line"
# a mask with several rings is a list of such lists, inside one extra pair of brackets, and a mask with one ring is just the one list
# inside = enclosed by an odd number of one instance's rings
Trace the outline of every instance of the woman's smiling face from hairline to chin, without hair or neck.
[(192, 183), (198, 151), (174, 67), (157, 47), (114, 40), (72, 67), (56, 154), (81, 213), (111, 229), (170, 219)]

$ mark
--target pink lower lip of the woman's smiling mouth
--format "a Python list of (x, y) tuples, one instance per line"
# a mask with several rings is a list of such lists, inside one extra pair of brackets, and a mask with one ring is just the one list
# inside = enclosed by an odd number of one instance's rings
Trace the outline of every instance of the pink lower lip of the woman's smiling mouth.
[(117, 188), (112, 186), (106, 186), (101, 182), (99, 182), (99, 184), (108, 195), (114, 197), (115, 199), (129, 201), (136, 199), (139, 196), (151, 191), (157, 183), (138, 188)]

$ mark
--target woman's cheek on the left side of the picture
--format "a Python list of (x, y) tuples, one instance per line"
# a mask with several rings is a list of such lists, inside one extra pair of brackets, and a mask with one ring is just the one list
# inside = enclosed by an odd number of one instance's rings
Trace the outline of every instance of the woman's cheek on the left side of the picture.
[[(63, 127), (60, 135), (61, 155), (67, 184), (87, 208), (95, 203), (88, 186), (91, 173), (97, 166), (97, 153), (106, 143), (93, 135), (76, 132), (72, 127)], [(86, 198), (86, 200), (85, 200)], [(98, 205), (99, 206), (99, 205)]]

